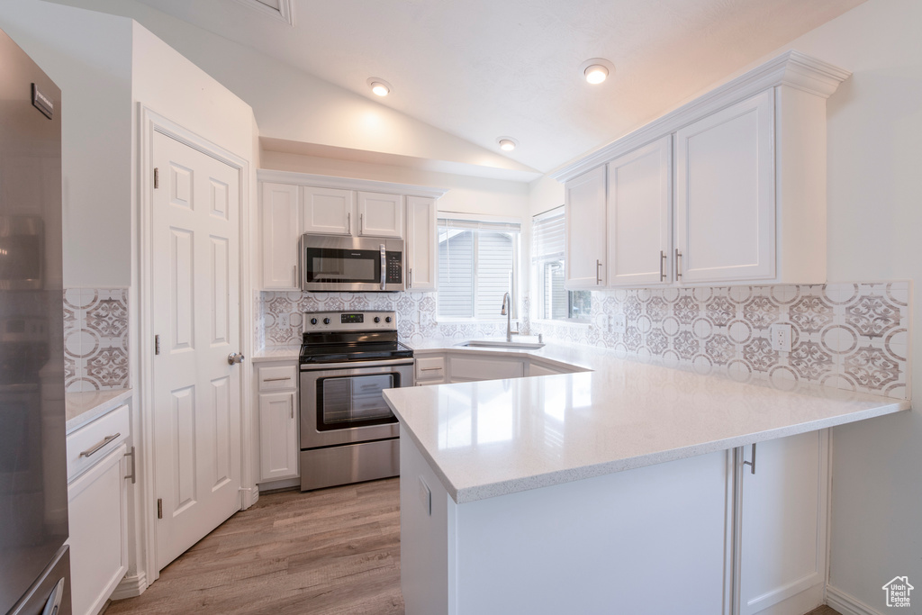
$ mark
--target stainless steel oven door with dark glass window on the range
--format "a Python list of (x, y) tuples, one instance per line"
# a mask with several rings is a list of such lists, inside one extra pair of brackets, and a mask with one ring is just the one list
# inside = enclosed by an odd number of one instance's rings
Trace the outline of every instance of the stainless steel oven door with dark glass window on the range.
[(413, 360), (301, 365), (301, 448), (396, 438), (384, 389), (413, 385)]

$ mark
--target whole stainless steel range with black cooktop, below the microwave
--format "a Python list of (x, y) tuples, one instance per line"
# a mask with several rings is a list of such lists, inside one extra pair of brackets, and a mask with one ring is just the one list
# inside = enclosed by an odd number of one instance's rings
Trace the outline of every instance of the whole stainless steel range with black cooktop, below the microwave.
[(384, 389), (413, 385), (413, 350), (394, 312), (304, 313), (301, 491), (400, 473)]

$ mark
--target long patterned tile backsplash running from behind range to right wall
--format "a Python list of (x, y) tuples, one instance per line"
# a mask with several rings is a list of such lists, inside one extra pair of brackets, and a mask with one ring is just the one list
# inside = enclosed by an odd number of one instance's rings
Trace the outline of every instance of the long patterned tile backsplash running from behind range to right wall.
[[(779, 388), (821, 384), (908, 398), (910, 283), (608, 290), (592, 293), (588, 325), (520, 319), (522, 333), (613, 349), (620, 357)], [(500, 336), (504, 321), (437, 323), (434, 293), (258, 293), (257, 344), (297, 344), (301, 313), (394, 310), (409, 343)], [(523, 302), (524, 314), (529, 301)], [(623, 333), (610, 325), (624, 314)], [(791, 352), (771, 325), (791, 325)], [(260, 326), (261, 324), (261, 326)]]

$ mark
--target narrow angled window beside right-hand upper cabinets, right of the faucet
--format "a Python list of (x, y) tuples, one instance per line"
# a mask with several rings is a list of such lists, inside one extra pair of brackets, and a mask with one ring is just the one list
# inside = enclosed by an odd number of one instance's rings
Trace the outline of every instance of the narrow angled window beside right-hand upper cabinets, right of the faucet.
[(538, 318), (588, 323), (592, 294), (563, 288), (563, 206), (532, 219), (531, 261)]

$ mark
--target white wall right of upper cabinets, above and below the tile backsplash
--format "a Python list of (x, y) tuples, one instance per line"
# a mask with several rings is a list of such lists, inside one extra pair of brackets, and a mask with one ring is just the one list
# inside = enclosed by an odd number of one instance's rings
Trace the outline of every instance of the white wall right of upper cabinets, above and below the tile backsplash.
[[(869, 0), (787, 47), (853, 73), (827, 107), (830, 280), (922, 280), (920, 26), (917, 0)], [(911, 352), (922, 357), (918, 332)], [(922, 361), (912, 375), (922, 382)], [(833, 438), (830, 584), (884, 612), (892, 577), (922, 586), (922, 415), (838, 427)], [(922, 593), (913, 602), (922, 612)]]

